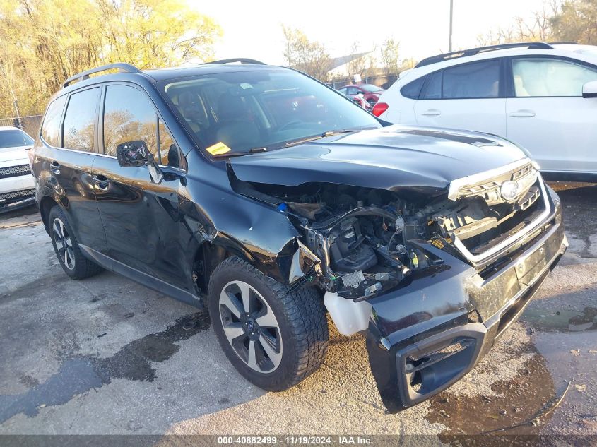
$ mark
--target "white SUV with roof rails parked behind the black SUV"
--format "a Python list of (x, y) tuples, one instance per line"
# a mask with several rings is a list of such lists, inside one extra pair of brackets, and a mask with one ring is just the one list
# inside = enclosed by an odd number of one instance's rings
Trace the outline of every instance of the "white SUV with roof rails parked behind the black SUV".
[(597, 47), (504, 44), (423, 59), (379, 98), (392, 123), (495, 133), (548, 177), (597, 180)]

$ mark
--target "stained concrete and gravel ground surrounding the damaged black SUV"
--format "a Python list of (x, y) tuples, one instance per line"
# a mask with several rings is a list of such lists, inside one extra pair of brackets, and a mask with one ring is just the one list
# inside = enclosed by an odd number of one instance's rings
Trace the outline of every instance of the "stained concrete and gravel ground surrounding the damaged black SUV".
[(1, 217), (0, 434), (427, 434), (419, 441), (455, 444), (532, 419), (569, 379), (551, 415), (500, 433), (597, 434), (597, 186), (555, 186), (570, 241), (560, 266), (471, 374), (398, 415), (386, 413), (359, 335), (331, 327), (316, 374), (264, 393), (229, 366), (204, 314), (111, 273), (69, 280), (36, 214)]

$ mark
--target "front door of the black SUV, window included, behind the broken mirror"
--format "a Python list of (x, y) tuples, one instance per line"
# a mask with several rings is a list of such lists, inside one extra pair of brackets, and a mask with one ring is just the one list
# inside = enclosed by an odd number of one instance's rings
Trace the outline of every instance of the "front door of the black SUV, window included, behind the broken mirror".
[[(93, 166), (101, 184), (97, 207), (107, 234), (105, 254), (141, 273), (192, 292), (180, 237), (179, 186), (184, 158), (148, 95), (131, 84), (108, 84), (102, 95), (103, 154)], [(142, 140), (165, 171), (154, 184), (147, 167), (121, 167), (117, 145)], [(130, 272), (129, 272), (130, 273)], [(147, 280), (147, 278), (145, 278)], [(141, 279), (143, 281), (143, 279)]]

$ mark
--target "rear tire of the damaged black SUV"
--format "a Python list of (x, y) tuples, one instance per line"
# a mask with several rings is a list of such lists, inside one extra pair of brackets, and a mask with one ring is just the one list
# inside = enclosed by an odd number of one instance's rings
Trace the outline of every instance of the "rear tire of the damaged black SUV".
[[(54, 206), (54, 208), (49, 211), (47, 222), (49, 234), (52, 238), (52, 246), (54, 246), (54, 253), (56, 253), (58, 261), (62, 266), (62, 270), (64, 270), (66, 275), (69, 275), (73, 280), (84, 280), (90, 276), (97, 275), (97, 273), (100, 273), (103, 270), (96, 263), (85, 258), (81, 248), (78, 246), (78, 241), (72, 230), (71, 222), (69, 222), (68, 217), (66, 217), (66, 214), (58, 205)], [(63, 244), (61, 240), (58, 240), (59, 234), (54, 230), (54, 225), (61, 227), (60, 224), (64, 225), (64, 236), (69, 239), (70, 244)], [(66, 246), (69, 246), (67, 254), (69, 265), (64, 261), (64, 250)]]

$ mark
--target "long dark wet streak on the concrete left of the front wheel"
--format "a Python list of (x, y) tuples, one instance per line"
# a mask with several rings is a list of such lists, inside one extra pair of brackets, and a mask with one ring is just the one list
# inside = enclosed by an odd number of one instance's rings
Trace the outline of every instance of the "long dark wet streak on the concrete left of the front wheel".
[(40, 408), (63, 405), (75, 395), (100, 388), (112, 379), (153, 381), (152, 362), (164, 362), (180, 349), (175, 342), (187, 340), (209, 328), (206, 312), (179, 318), (162, 332), (134, 340), (110, 357), (74, 357), (61, 364), (56, 374), (17, 395), (0, 395), (0, 424), (23, 413), (34, 417)]

